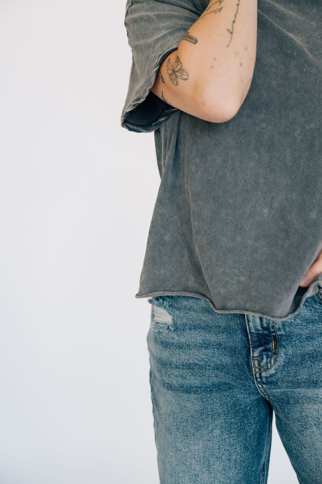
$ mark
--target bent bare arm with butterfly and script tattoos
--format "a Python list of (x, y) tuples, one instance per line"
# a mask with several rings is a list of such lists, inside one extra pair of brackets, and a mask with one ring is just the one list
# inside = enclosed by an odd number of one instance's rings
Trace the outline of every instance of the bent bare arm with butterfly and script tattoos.
[(257, 0), (210, 0), (160, 65), (151, 91), (197, 118), (229, 121), (249, 90), (256, 44)]

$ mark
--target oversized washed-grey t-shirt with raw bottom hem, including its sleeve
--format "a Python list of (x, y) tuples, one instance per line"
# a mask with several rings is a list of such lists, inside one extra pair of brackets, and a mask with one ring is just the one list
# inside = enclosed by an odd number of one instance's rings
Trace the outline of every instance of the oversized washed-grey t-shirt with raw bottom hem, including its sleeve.
[(283, 320), (322, 249), (322, 3), (258, 0), (253, 79), (227, 122), (152, 91), (209, 0), (127, 0), (132, 66), (121, 126), (154, 132), (161, 176), (137, 298), (187, 295), (216, 312)]

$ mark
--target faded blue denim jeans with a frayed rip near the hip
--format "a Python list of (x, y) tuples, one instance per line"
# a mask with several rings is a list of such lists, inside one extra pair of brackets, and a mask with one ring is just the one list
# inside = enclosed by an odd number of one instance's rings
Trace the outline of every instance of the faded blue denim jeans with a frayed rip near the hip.
[(160, 484), (266, 483), (273, 410), (298, 481), (321, 484), (322, 288), (283, 321), (148, 301)]

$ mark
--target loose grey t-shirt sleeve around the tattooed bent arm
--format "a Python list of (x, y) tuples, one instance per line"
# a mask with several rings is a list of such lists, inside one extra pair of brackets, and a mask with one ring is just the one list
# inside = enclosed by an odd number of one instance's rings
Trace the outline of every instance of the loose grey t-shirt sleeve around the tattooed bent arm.
[(148, 133), (177, 110), (150, 90), (161, 63), (200, 15), (192, 0), (127, 0), (124, 25), (132, 65), (121, 115), (123, 128)]

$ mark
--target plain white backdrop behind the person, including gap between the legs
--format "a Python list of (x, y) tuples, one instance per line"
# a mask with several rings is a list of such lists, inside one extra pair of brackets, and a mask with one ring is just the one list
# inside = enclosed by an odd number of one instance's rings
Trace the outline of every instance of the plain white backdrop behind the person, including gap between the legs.
[[(151, 305), (160, 178), (120, 126), (125, 0), (0, 1), (0, 483), (157, 484)], [(275, 423), (269, 484), (296, 484)]]

